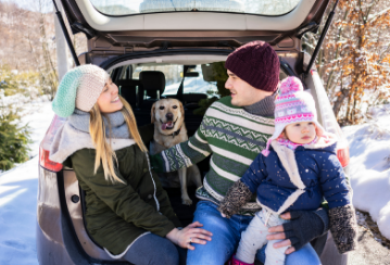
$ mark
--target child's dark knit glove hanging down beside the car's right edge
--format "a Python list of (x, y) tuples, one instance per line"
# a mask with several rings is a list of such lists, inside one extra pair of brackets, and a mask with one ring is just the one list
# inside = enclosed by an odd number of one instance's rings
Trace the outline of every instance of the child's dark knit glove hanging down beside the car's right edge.
[(331, 236), (340, 254), (356, 249), (357, 224), (355, 210), (345, 205), (329, 210)]

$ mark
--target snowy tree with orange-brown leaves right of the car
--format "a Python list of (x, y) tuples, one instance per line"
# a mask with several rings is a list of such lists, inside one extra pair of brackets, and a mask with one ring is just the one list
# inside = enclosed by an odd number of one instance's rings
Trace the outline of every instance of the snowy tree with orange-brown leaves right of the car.
[[(389, 0), (340, 0), (316, 61), (340, 123), (356, 124), (369, 105), (390, 98), (388, 7)], [(317, 36), (303, 40), (311, 52)]]

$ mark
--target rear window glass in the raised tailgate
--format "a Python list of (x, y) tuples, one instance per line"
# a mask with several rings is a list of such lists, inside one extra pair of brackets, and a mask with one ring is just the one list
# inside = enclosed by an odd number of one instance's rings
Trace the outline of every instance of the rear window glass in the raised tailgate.
[(140, 13), (212, 11), (257, 15), (281, 15), (293, 10), (301, 0), (90, 0), (108, 15)]

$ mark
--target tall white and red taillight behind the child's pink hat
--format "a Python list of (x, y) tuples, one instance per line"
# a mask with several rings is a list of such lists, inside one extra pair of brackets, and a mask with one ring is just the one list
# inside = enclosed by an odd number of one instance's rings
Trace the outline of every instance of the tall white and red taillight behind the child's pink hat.
[(350, 163), (350, 149), (348, 147), (348, 141), (339, 124), (337, 123), (334, 110), (330, 105), (328, 96), (325, 92), (323, 83), (317, 71), (312, 70), (310, 73), (313, 78), (315, 93), (318, 102), (318, 119), (320, 119), (319, 122), (326, 131), (335, 134), (337, 136), (337, 157), (339, 159), (342, 167), (345, 167)]

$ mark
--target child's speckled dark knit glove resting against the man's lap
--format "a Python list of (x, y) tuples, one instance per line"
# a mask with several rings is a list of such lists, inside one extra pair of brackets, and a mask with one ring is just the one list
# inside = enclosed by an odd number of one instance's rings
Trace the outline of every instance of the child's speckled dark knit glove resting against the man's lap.
[(221, 202), (218, 211), (222, 216), (230, 218), (232, 215), (237, 214), (240, 209), (249, 200), (251, 200), (252, 192), (247, 185), (237, 180), (227, 191), (224, 200)]

